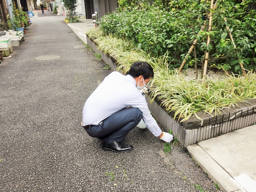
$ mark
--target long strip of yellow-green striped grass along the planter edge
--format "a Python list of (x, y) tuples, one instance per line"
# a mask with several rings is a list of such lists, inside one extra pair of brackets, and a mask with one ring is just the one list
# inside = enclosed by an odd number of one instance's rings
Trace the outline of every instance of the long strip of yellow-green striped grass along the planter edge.
[(104, 35), (100, 28), (88, 32), (105, 54), (113, 56), (118, 62), (118, 69), (125, 74), (134, 61), (147, 61), (154, 68), (154, 78), (151, 81), (151, 98), (161, 100), (166, 111), (175, 111), (174, 118), (180, 122), (186, 121), (196, 112), (204, 111), (218, 114), (223, 109), (234, 107), (237, 102), (256, 98), (256, 74), (251, 71), (247, 76), (228, 75), (226, 79), (206, 78), (202, 85), (198, 80), (186, 81), (177, 70), (170, 70), (170, 53), (154, 58), (140, 49), (135, 49), (132, 43)]

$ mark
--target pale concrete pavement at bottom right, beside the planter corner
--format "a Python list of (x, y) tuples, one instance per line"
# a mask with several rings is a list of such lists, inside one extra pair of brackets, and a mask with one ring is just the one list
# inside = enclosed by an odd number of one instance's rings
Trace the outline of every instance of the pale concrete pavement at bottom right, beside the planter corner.
[(223, 191), (256, 191), (256, 125), (187, 147)]

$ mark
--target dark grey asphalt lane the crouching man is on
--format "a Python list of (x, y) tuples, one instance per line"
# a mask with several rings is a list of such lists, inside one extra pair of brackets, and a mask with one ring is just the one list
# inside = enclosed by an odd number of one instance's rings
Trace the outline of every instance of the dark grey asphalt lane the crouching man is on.
[[(84, 102), (111, 71), (64, 17), (31, 20), (25, 42), (0, 64), (1, 192), (217, 191), (190, 156), (172, 145), (164, 154), (148, 130), (128, 134), (133, 151), (103, 151), (80, 122)], [(46, 55), (60, 58), (35, 60)]]

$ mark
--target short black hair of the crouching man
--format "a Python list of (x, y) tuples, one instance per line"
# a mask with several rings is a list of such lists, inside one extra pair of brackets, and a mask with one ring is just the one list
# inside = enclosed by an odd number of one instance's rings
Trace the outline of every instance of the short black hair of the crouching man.
[(143, 76), (144, 79), (154, 77), (154, 71), (150, 64), (143, 61), (135, 61), (130, 70), (127, 72), (128, 75), (131, 75), (133, 78), (138, 76)]

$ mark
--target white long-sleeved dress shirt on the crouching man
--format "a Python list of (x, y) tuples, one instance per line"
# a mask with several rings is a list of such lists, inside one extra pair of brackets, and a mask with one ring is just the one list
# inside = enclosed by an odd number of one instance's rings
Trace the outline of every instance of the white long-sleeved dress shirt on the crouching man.
[(83, 124), (98, 125), (108, 116), (126, 107), (139, 108), (149, 131), (155, 136), (162, 133), (156, 120), (150, 114), (148, 103), (137, 89), (135, 79), (117, 71), (105, 77), (104, 81), (86, 100), (83, 109)]

